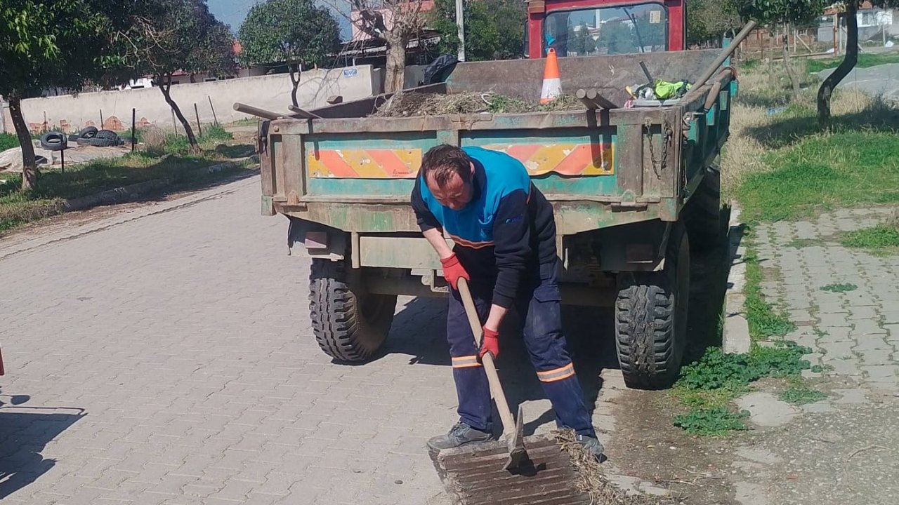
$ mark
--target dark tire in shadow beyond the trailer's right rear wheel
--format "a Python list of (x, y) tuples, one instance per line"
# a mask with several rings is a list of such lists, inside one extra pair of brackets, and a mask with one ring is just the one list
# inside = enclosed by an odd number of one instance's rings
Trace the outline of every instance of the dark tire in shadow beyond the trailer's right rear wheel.
[(709, 167), (684, 208), (684, 222), (694, 253), (715, 249), (721, 244), (721, 172), (717, 164)]

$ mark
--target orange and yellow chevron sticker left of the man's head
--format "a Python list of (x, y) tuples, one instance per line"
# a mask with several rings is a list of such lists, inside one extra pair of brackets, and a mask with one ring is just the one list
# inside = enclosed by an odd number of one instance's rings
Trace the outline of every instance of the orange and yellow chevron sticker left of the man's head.
[(422, 165), (421, 149), (319, 149), (309, 151), (310, 177), (411, 179)]

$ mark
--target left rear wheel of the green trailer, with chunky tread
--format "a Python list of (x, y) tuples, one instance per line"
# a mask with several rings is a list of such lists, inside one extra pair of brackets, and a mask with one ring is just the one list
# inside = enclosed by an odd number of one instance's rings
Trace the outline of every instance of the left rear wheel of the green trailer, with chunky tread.
[(371, 358), (387, 339), (396, 296), (366, 293), (347, 270), (343, 261), (312, 260), (309, 315), (325, 354), (356, 363)]

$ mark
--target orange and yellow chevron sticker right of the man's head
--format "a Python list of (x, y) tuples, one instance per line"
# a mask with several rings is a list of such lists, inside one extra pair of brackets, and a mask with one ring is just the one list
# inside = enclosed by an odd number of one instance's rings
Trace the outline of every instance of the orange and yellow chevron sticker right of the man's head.
[(502, 151), (524, 164), (531, 175), (611, 175), (615, 173), (611, 144), (513, 144), (484, 146)]

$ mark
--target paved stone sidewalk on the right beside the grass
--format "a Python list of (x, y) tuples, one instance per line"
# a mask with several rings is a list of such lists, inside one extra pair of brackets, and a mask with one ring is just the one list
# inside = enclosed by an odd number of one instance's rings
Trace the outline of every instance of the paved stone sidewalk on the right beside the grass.
[[(787, 338), (813, 348), (809, 358), (832, 374), (883, 393), (899, 392), (899, 256), (847, 249), (837, 235), (880, 224), (891, 212), (841, 209), (814, 221), (759, 226), (757, 238), (762, 267), (779, 277), (763, 282), (762, 292), (798, 325)], [(857, 288), (822, 289), (833, 284)]]

